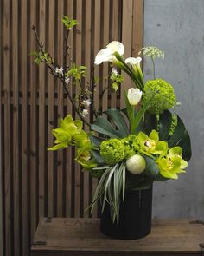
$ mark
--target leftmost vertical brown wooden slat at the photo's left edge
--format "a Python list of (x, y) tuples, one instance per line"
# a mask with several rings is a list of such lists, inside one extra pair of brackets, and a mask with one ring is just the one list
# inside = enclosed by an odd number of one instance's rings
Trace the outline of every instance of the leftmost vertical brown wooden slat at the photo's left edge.
[(5, 223), (5, 233), (3, 234), (3, 240), (5, 243), (5, 256), (11, 255), (11, 246), (13, 243), (11, 236), (11, 209), (10, 209), (10, 197), (11, 197), (11, 187), (10, 187), (10, 164), (11, 164), (11, 149), (10, 149), (10, 1), (3, 1), (3, 90), (5, 98), (4, 107), (4, 223)]

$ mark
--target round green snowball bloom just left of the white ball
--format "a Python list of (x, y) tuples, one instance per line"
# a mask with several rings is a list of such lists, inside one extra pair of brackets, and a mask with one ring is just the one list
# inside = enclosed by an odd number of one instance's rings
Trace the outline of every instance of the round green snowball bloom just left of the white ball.
[(112, 165), (124, 159), (124, 144), (121, 140), (110, 139), (100, 144), (100, 155)]

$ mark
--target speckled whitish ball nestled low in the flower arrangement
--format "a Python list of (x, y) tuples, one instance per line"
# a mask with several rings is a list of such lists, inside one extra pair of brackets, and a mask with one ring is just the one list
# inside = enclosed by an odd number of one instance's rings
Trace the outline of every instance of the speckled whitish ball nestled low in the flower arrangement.
[(131, 174), (141, 174), (146, 167), (146, 162), (143, 156), (134, 154), (126, 161), (126, 167)]

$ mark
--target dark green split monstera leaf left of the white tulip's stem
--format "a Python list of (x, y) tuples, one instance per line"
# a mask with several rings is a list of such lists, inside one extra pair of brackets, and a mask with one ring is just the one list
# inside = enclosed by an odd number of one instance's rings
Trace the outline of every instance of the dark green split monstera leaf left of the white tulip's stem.
[(106, 135), (110, 138), (124, 138), (129, 135), (127, 124), (124, 116), (117, 109), (108, 109), (104, 112), (113, 121), (114, 125), (105, 117), (99, 116), (92, 123), (91, 129), (101, 135)]

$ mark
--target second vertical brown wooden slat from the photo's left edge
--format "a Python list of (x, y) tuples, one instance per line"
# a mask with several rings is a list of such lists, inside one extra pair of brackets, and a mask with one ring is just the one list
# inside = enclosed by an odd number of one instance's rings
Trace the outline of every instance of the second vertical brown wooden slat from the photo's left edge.
[[(22, 154), (19, 152), (19, 108), (18, 108), (18, 95), (21, 86), (19, 83), (19, 69), (18, 69), (18, 3), (12, 1), (12, 91), (14, 94), (13, 102), (13, 213), (14, 213), (14, 223), (13, 223), (13, 232), (14, 232), (14, 255), (20, 256), (20, 191), (19, 191), (19, 162), (22, 162)], [(19, 161), (20, 160), (20, 161)]]

